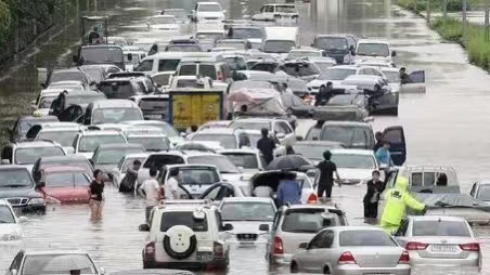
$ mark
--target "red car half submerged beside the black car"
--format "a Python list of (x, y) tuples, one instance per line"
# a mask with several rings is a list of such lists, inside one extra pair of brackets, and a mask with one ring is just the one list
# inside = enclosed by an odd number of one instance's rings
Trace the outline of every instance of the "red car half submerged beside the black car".
[(47, 202), (88, 204), (91, 178), (79, 167), (46, 167), (37, 188)]

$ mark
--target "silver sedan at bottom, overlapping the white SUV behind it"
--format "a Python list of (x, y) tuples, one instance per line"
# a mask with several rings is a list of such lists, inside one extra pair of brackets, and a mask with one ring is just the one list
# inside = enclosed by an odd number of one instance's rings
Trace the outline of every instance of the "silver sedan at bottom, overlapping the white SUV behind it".
[(292, 273), (409, 275), (411, 271), (409, 253), (378, 227), (328, 227), (298, 248)]

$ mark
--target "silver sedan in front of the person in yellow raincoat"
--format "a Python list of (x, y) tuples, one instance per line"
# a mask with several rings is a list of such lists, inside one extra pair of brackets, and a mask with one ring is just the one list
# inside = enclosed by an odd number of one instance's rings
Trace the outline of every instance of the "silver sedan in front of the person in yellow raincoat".
[(412, 264), (481, 266), (480, 244), (463, 218), (409, 217), (396, 235)]

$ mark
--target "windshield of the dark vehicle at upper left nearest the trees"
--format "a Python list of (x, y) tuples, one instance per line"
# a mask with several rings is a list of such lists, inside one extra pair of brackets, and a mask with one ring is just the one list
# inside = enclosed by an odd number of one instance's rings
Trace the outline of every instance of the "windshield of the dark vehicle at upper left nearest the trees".
[(80, 60), (83, 64), (122, 63), (125, 55), (118, 47), (83, 47)]

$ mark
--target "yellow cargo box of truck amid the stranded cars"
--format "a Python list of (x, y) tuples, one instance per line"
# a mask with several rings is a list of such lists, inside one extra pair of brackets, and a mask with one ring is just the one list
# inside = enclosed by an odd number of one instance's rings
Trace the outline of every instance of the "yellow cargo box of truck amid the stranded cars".
[(224, 119), (224, 93), (221, 90), (170, 90), (169, 122), (178, 130)]

